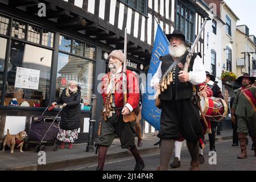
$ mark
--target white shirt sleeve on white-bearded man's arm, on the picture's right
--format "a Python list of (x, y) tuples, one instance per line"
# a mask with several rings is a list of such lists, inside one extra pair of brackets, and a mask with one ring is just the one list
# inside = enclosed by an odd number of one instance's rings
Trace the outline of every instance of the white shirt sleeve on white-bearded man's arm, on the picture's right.
[(196, 59), (193, 64), (193, 71), (188, 73), (188, 81), (193, 85), (198, 85), (206, 80), (205, 68), (203, 61), (200, 56), (196, 56)]

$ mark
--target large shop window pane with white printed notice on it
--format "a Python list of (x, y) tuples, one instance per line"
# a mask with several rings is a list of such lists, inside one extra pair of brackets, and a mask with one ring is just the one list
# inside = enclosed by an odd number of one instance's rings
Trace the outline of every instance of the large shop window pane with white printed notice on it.
[(46, 107), (52, 51), (12, 41), (4, 105)]

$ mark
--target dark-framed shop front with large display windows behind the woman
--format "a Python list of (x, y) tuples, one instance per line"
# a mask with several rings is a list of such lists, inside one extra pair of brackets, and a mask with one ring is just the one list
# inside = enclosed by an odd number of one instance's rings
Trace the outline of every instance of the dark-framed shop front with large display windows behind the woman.
[[(0, 14), (0, 143), (7, 133), (26, 130), (56, 100), (69, 80), (81, 86), (81, 127), (89, 131), (97, 46), (55, 27)], [(55, 115), (57, 106), (48, 115)]]

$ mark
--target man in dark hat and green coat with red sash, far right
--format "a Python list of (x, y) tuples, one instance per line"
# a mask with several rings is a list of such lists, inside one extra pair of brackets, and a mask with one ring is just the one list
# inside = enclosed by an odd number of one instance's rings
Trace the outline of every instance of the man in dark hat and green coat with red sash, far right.
[[(249, 136), (253, 140), (254, 146), (256, 144), (256, 87), (253, 85), (255, 77), (250, 77), (248, 73), (244, 73), (236, 81), (242, 87), (238, 89), (231, 113), (233, 122), (236, 122), (237, 116), (237, 135), (241, 147), (241, 154), (237, 158), (245, 159), (247, 158), (247, 133), (249, 133)], [(254, 156), (256, 156), (255, 148)]]

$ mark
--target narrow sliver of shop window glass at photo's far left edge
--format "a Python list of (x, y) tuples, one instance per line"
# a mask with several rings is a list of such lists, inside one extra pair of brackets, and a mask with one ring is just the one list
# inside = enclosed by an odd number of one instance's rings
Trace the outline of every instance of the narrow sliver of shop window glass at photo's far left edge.
[(0, 38), (0, 102), (3, 90), (3, 70), (5, 68), (6, 44), (7, 39)]

